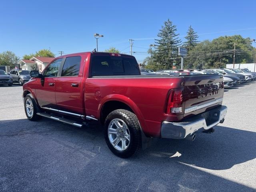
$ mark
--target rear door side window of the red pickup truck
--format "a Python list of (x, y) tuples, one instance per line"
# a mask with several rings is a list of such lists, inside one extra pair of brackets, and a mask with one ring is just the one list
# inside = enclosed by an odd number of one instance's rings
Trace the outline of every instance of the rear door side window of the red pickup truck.
[(67, 57), (61, 72), (61, 76), (78, 76), (81, 56)]

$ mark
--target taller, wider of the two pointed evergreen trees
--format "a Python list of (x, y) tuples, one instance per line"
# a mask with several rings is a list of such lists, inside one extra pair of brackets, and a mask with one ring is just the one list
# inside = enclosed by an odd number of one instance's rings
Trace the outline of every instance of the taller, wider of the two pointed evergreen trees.
[(179, 34), (176, 34), (176, 25), (173, 25), (169, 19), (164, 22), (164, 26), (159, 31), (157, 36), (160, 39), (155, 39), (155, 59), (163, 66), (162, 68), (171, 69), (172, 64), (176, 62), (181, 40), (178, 37)]

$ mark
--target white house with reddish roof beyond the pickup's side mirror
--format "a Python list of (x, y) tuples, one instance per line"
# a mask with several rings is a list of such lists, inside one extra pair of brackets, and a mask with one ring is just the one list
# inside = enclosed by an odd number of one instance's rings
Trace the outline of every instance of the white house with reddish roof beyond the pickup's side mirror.
[(54, 57), (32, 57), (30, 60), (22, 59), (18, 62), (22, 70), (35, 70), (40, 72), (54, 59)]

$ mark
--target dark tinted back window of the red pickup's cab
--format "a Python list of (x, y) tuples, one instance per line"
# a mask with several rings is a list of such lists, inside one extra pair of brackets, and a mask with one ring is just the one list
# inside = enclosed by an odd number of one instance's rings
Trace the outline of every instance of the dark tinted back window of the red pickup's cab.
[(91, 76), (139, 75), (140, 69), (134, 58), (93, 56)]

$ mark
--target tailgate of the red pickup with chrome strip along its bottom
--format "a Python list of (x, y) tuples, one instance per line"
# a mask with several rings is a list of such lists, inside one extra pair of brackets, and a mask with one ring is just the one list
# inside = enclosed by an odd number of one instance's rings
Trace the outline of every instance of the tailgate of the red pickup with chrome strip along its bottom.
[(222, 104), (223, 76), (206, 74), (184, 76), (184, 117), (210, 110)]

